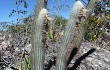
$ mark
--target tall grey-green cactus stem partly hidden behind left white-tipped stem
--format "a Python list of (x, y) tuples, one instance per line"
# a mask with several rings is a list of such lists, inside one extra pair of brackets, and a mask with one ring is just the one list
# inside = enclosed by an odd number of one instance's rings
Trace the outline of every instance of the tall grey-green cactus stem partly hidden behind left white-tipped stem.
[[(36, 65), (37, 65), (37, 62), (35, 62), (35, 57), (36, 57), (36, 34), (37, 34), (37, 30), (36, 30), (36, 26), (37, 26), (37, 19), (38, 19), (38, 15), (39, 15), (39, 12), (41, 11), (42, 8), (46, 8), (46, 5), (47, 5), (47, 1), (44, 1), (44, 0), (37, 0), (37, 6), (36, 6), (36, 10), (35, 10), (35, 17), (34, 17), (34, 21), (33, 21), (33, 24), (32, 24), (32, 38), (31, 38), (31, 44), (32, 44), (32, 49), (31, 49), (31, 70), (42, 70), (41, 68), (39, 69), (36, 69)], [(39, 57), (40, 58), (40, 57)]]

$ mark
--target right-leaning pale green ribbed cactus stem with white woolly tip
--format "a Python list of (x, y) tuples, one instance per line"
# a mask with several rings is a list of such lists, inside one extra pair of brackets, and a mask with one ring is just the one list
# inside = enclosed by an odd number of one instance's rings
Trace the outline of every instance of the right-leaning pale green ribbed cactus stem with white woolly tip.
[(84, 8), (84, 5), (80, 1), (77, 1), (72, 8), (72, 12), (70, 14), (68, 24), (66, 25), (63, 39), (60, 44), (60, 49), (56, 63), (57, 70), (65, 70), (66, 68), (65, 56), (67, 45), (70, 42), (71, 34), (73, 32), (72, 30), (75, 27), (75, 23), (77, 22), (76, 20), (78, 19), (78, 14), (82, 8)]

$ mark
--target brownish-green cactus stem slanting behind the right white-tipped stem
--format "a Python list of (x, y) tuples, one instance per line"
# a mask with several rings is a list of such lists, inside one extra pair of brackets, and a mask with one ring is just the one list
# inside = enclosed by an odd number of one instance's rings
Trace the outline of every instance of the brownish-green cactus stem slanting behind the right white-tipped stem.
[[(87, 20), (82, 20), (80, 22), (80, 25), (78, 28), (74, 29), (73, 35), (71, 37), (71, 42), (69, 43), (69, 45), (67, 46), (68, 50), (67, 50), (67, 56), (66, 56), (66, 61), (68, 61), (69, 56), (71, 54), (71, 52), (73, 52), (73, 48), (77, 48), (77, 50), (80, 48), (80, 45), (83, 41), (83, 38), (85, 36), (85, 32), (87, 31), (87, 25), (88, 25), (88, 17), (91, 15), (94, 7), (96, 5), (96, 0), (90, 0), (86, 9), (89, 10), (88, 13), (86, 13), (86, 18)], [(78, 31), (78, 32), (77, 32)], [(74, 33), (76, 35), (74, 35)], [(74, 37), (75, 36), (75, 37)], [(69, 64), (69, 62), (67, 63), (67, 65)]]

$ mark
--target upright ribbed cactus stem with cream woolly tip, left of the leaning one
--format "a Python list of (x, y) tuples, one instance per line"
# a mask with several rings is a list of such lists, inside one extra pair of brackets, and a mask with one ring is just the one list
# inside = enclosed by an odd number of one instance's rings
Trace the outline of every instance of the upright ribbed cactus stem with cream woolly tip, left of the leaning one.
[(44, 70), (44, 42), (43, 42), (43, 25), (45, 16), (48, 14), (46, 9), (41, 9), (37, 18), (37, 25), (35, 27), (35, 43), (34, 43), (34, 70)]

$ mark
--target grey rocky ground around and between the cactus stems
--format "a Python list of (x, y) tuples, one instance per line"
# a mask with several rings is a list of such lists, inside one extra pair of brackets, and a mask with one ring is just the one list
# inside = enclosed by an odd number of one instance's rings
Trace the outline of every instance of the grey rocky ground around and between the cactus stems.
[[(24, 70), (25, 55), (30, 54), (31, 36), (25, 33), (1, 35), (0, 42), (0, 70)], [(45, 46), (45, 70), (48, 64), (54, 64), (57, 56), (59, 41), (51, 42), (47, 40)], [(78, 53), (68, 65), (68, 70), (110, 70), (110, 46), (100, 48), (98, 45), (83, 41)]]

